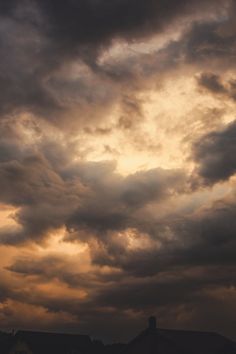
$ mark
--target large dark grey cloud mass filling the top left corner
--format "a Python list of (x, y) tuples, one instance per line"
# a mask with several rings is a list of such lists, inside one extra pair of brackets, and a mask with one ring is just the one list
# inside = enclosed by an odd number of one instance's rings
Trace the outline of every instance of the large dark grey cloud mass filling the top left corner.
[[(109, 87), (103, 97), (98, 92), (94, 95), (92, 83), (81, 79), (68, 83), (68, 80), (55, 77), (59, 68), (72, 59), (80, 59), (92, 71), (101, 73), (98, 55), (113, 39), (135, 40), (154, 34), (184, 14), (200, 12), (208, 6), (212, 9), (212, 4), (213, 1), (184, 0), (168, 3), (162, 0), (109, 3), (50, 0), (24, 1), (21, 5), (11, 1), (1, 5), (1, 114), (28, 110), (60, 124), (64, 111), (70, 108), (74, 91), (77, 106), (83, 106), (84, 101), (91, 104), (94, 99), (104, 106), (104, 96), (110, 97), (109, 92), (112, 92)], [(205, 36), (206, 31), (202, 26), (199, 28)], [(196, 46), (201, 45), (203, 39), (198, 33), (195, 37), (198, 38)], [(194, 40), (190, 42), (189, 46), (195, 46), (192, 45)], [(132, 66), (128, 64), (128, 67)], [(127, 77), (122, 67), (114, 70), (108, 66), (102, 71), (113, 79)], [(150, 71), (150, 68), (146, 66), (143, 71)], [(101, 85), (98, 86), (101, 91)]]

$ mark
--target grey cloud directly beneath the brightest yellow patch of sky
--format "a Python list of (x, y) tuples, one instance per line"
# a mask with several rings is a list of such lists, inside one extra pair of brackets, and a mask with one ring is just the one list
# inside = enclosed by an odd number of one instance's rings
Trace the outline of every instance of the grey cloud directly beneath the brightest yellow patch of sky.
[[(89, 166), (84, 167), (86, 171)], [(178, 193), (185, 181), (184, 173), (178, 170), (154, 169), (126, 178), (116, 174), (95, 178), (91, 169), (87, 171), (89, 175), (84, 175), (84, 183), (91, 183), (91, 194), (71, 217), (68, 226), (70, 229), (88, 228), (101, 234), (135, 227), (137, 210)]]

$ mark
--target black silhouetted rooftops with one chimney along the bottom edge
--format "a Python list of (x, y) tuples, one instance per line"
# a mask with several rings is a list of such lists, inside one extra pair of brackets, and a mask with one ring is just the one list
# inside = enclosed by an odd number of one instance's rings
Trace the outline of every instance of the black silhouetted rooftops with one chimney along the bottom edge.
[(211, 332), (159, 329), (156, 318), (127, 344), (104, 345), (87, 335), (0, 333), (0, 354), (236, 354), (236, 343)]

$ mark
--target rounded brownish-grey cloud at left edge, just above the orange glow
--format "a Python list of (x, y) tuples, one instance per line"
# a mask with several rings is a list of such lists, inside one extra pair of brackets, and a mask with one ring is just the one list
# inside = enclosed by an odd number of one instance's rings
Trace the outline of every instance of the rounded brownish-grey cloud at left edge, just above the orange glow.
[(0, 181), (2, 202), (21, 207), (16, 215), (21, 228), (1, 230), (5, 243), (44, 237), (47, 231), (62, 226), (78, 204), (79, 181), (63, 181), (41, 155), (3, 162)]

